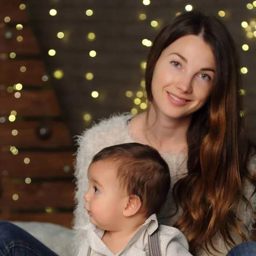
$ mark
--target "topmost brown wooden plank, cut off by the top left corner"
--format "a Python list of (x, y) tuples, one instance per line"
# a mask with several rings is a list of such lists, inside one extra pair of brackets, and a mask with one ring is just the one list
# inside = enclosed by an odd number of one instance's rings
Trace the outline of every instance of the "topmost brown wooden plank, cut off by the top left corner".
[(10, 22), (28, 22), (28, 16), (25, 10), (20, 10), (19, 6), (22, 0), (1, 0), (0, 1), (0, 20), (4, 20), (6, 16), (11, 18)]

